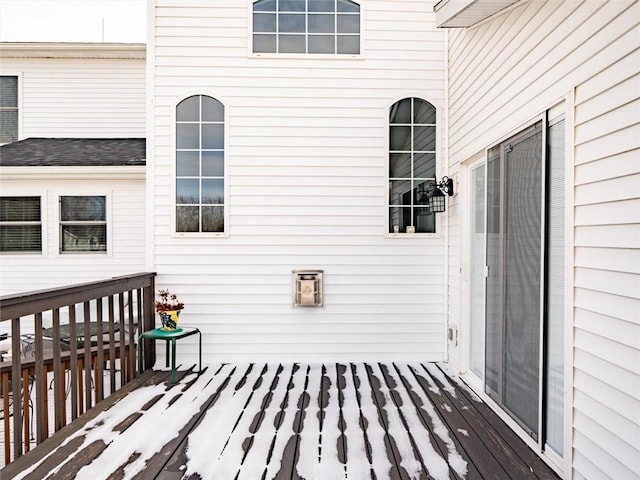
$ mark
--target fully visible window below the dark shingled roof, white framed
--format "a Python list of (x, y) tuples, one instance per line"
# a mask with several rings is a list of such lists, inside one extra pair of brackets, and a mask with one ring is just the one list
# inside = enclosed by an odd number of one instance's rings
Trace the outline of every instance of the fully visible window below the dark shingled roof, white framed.
[(107, 251), (107, 198), (60, 197), (60, 253)]

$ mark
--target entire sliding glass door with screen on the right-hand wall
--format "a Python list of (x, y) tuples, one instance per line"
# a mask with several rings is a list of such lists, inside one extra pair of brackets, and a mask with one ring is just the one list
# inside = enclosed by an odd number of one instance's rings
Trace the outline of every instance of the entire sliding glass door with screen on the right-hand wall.
[(541, 449), (562, 455), (564, 121), (469, 168), (469, 368)]

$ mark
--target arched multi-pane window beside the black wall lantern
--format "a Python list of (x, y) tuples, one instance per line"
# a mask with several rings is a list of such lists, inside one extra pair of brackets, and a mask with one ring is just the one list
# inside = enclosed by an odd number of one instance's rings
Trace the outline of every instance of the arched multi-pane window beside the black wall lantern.
[(389, 233), (434, 233), (427, 206), (436, 176), (436, 109), (404, 98), (389, 112)]

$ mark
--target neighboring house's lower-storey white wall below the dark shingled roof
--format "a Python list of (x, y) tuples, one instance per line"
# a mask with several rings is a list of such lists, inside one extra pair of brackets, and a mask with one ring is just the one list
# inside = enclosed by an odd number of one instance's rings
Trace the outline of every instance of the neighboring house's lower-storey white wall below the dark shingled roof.
[[(0, 295), (144, 271), (144, 184), (144, 167), (2, 167), (3, 196), (41, 196), (43, 252), (0, 255)], [(107, 253), (60, 253), (61, 195), (106, 196)]]

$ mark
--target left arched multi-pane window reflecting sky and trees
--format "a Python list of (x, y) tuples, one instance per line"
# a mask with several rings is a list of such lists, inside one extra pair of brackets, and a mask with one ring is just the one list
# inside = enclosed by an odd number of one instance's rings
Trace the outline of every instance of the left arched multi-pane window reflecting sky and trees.
[(206, 95), (176, 107), (176, 232), (224, 232), (224, 105)]

